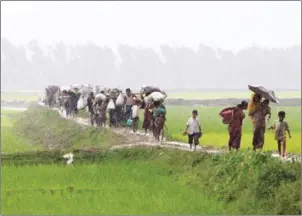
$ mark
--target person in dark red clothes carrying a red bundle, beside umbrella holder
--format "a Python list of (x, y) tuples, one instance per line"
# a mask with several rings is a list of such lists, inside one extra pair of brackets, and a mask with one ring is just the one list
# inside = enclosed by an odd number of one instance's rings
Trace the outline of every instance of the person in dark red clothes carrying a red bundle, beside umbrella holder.
[(232, 148), (238, 150), (240, 148), (241, 143), (241, 135), (242, 135), (242, 122), (245, 118), (245, 114), (243, 110), (246, 110), (248, 107), (248, 103), (246, 101), (242, 101), (236, 107), (228, 107), (223, 109), (219, 116), (222, 118), (222, 122), (224, 124), (228, 124), (229, 130), (229, 150)]

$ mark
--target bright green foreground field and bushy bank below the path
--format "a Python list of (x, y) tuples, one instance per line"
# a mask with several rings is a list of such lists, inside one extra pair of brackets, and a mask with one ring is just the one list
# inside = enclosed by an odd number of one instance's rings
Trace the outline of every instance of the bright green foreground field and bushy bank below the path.
[[(4, 155), (3, 214), (300, 214), (300, 164), (248, 151)], [(277, 205), (276, 205), (277, 204)]]

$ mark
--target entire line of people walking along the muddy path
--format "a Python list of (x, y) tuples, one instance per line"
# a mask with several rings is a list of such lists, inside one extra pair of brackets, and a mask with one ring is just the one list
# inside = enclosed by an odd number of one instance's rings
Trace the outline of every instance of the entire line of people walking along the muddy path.
[[(54, 89), (54, 87), (49, 88)], [(107, 111), (109, 112), (109, 127), (131, 126), (133, 133), (138, 130), (139, 110), (144, 110), (143, 129), (145, 133), (153, 133), (156, 140), (160, 141), (160, 136), (164, 135), (164, 127), (166, 121), (166, 107), (163, 104), (164, 100), (145, 100), (152, 92), (162, 92), (158, 88), (145, 87), (140, 97), (133, 94), (130, 88), (127, 88), (125, 93), (121, 90), (111, 90), (108, 92), (100, 91), (98, 94), (104, 97), (97, 97), (93, 91), (89, 94), (86, 104), (90, 113), (91, 125), (103, 126), (107, 125)], [(144, 93), (147, 92), (147, 94)], [(48, 90), (48, 94), (50, 94)], [(54, 92), (54, 91), (52, 91)], [(142, 94), (144, 93), (144, 94)], [(51, 95), (51, 94), (50, 94)], [(106, 96), (105, 96), (106, 95)], [(162, 96), (163, 96), (162, 95)], [(67, 96), (68, 100), (61, 99), (61, 106), (65, 107), (66, 115), (71, 113), (77, 113), (77, 103), (81, 97), (80, 93), (74, 91), (64, 90), (62, 97)], [(83, 95), (82, 95), (83, 96)], [(161, 97), (161, 96), (160, 96)], [(52, 97), (49, 97), (52, 99)], [(51, 100), (49, 100), (51, 101)], [(51, 103), (49, 103), (51, 104)], [(260, 94), (253, 93), (250, 102), (242, 101), (235, 107), (228, 107), (223, 109), (219, 115), (222, 117), (224, 124), (228, 124), (229, 132), (229, 150), (240, 148), (242, 137), (242, 125), (246, 115), (244, 110), (247, 110), (248, 117), (253, 124), (253, 150), (262, 149), (265, 140), (265, 132), (267, 129), (267, 121), (271, 118), (271, 108), (269, 106), (270, 101), (264, 99)], [(291, 138), (289, 125), (284, 120), (285, 112), (280, 111), (278, 113), (279, 119), (274, 122), (268, 129), (275, 130), (275, 139), (278, 144), (278, 151), (282, 157), (286, 155), (286, 132)], [(198, 111), (192, 111), (192, 117), (187, 121), (184, 135), (188, 136), (188, 143), (190, 148), (194, 146), (193, 150), (196, 150), (196, 146), (199, 145), (199, 139), (202, 136), (200, 122), (198, 119)]]

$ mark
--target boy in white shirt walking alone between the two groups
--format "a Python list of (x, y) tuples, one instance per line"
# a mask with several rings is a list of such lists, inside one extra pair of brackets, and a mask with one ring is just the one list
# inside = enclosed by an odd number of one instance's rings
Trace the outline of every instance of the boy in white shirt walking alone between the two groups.
[(188, 142), (190, 144), (190, 149), (192, 150), (192, 145), (194, 142), (194, 150), (196, 150), (196, 146), (199, 145), (199, 138), (202, 135), (200, 122), (198, 119), (197, 110), (192, 111), (192, 117), (189, 118), (186, 129), (183, 132), (183, 135), (188, 135)]

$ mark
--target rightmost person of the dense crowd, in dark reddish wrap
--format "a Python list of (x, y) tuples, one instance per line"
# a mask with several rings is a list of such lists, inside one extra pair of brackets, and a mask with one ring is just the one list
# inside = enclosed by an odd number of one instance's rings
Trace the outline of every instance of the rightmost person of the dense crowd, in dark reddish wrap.
[(163, 130), (166, 121), (166, 108), (161, 101), (153, 102), (153, 135), (157, 141), (159, 141), (160, 135), (163, 139)]

